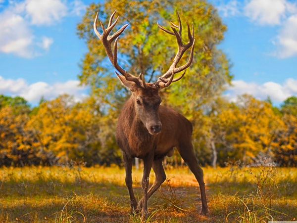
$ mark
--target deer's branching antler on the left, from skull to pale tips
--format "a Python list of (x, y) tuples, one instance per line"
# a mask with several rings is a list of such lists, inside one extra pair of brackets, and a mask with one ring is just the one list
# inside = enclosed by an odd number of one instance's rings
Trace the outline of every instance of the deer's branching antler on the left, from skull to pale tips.
[[(123, 68), (121, 68), (117, 63), (117, 41), (118, 41), (118, 37), (123, 33), (123, 31), (126, 29), (126, 27), (129, 24), (126, 24), (126, 25), (122, 26), (122, 28), (120, 28), (112, 36), (109, 36), (109, 33), (111, 32), (111, 30), (116, 25), (116, 23), (118, 22), (118, 19), (119, 19), (119, 17), (117, 17), (115, 22), (112, 23), (112, 19), (113, 19), (115, 13), (116, 13), (116, 11), (114, 11), (112, 13), (112, 15), (110, 16), (108, 26), (107, 26), (106, 29), (104, 28), (104, 26), (102, 24), (102, 21), (100, 20), (100, 24), (101, 24), (102, 31), (103, 31), (102, 35), (99, 33), (99, 31), (97, 29), (97, 21), (98, 21), (98, 13), (97, 13), (95, 21), (94, 21), (94, 31), (95, 31), (96, 35), (98, 36), (98, 38), (101, 40), (101, 42), (102, 42), (102, 44), (103, 44), (103, 46), (105, 48), (106, 54), (107, 54), (110, 62), (114, 66), (114, 68), (117, 69), (117, 71), (121, 75), (125, 76), (127, 81), (135, 82), (139, 87), (146, 89), (147, 85), (146, 85), (144, 76), (142, 74), (140, 74), (139, 77), (135, 77), (134, 75), (128, 73)], [(114, 42), (114, 45), (113, 45), (113, 52), (112, 52), (111, 43), (114, 40), (115, 40), (115, 42)], [(118, 73), (116, 73), (116, 74), (119, 76)]]

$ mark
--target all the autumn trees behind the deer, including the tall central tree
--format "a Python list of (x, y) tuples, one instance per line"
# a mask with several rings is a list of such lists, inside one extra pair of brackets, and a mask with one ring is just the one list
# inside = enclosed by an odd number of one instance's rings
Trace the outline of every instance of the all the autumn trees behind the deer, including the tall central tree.
[[(89, 87), (90, 96), (75, 102), (71, 96), (61, 95), (31, 108), (21, 97), (1, 95), (0, 166), (54, 165), (71, 160), (122, 165), (114, 132), (130, 93), (106, 62), (105, 49), (93, 29), (96, 12), (106, 28), (111, 12), (117, 11), (119, 20), (111, 33), (117, 26), (130, 24), (118, 42), (119, 63), (151, 82), (168, 70), (177, 50), (176, 38), (164, 34), (156, 22), (165, 27), (169, 21), (178, 24), (176, 9), (182, 21), (193, 24), (194, 59), (183, 79), (163, 89), (160, 96), (163, 105), (176, 109), (193, 124), (193, 145), (200, 164), (249, 163), (262, 154), (279, 166), (297, 166), (297, 97), (287, 98), (280, 107), (273, 107), (269, 98), (260, 101), (250, 95), (241, 95), (234, 103), (224, 99), (223, 92), (233, 79), (232, 64), (218, 45), (227, 26), (217, 9), (204, 0), (91, 3), (77, 25), (77, 34), (88, 48), (78, 78)], [(182, 26), (186, 28), (185, 23)], [(187, 32), (183, 35), (186, 43)], [(185, 64), (186, 58), (179, 64)], [(166, 162), (180, 165), (182, 160), (174, 155)]]

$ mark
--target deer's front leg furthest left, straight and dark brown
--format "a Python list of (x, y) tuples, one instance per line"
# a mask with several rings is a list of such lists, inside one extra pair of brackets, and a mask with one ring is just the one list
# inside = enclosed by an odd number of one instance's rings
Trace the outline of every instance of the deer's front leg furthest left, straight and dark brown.
[(134, 196), (133, 187), (132, 187), (132, 165), (133, 165), (133, 158), (128, 156), (127, 154), (123, 154), (124, 164), (125, 164), (125, 172), (126, 172), (126, 186), (129, 191), (130, 195), (130, 206), (131, 206), (131, 213), (133, 214), (137, 208), (137, 201)]

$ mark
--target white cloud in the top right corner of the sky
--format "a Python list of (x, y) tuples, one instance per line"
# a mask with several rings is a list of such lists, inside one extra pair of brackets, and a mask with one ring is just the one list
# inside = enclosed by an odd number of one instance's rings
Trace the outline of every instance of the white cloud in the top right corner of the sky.
[(278, 35), (270, 39), (275, 45), (270, 55), (279, 58), (297, 55), (297, 1), (227, 0), (217, 4), (217, 8), (224, 17), (244, 15), (257, 25), (279, 26)]

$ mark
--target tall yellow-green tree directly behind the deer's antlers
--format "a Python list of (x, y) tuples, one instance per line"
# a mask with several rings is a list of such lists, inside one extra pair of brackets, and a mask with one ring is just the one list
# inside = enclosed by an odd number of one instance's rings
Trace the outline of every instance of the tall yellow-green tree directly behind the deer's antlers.
[[(182, 21), (194, 24), (194, 61), (181, 81), (162, 91), (162, 104), (184, 114), (193, 123), (194, 129), (200, 128), (199, 118), (207, 108), (207, 103), (211, 104), (232, 79), (229, 61), (216, 47), (226, 31), (216, 9), (204, 0), (105, 0), (102, 4), (93, 3), (87, 8), (82, 22), (77, 26), (79, 37), (86, 41), (89, 49), (82, 60), (79, 78), (82, 84), (91, 87), (92, 93), (99, 99), (102, 118), (108, 120), (109, 116), (114, 117), (114, 123), (109, 123), (111, 132), (129, 93), (120, 86), (114, 68), (106, 60), (105, 50), (94, 33), (93, 23), (98, 11), (99, 19), (107, 24), (114, 10), (120, 17), (114, 32), (122, 25), (130, 24), (119, 38), (118, 62), (132, 74), (143, 73), (147, 82), (155, 81), (168, 70), (177, 50), (175, 38), (161, 31), (156, 22), (165, 27), (169, 25), (168, 21), (176, 23), (177, 10)], [(185, 28), (185, 24), (182, 25)], [(188, 40), (187, 33), (183, 35), (183, 39)], [(189, 53), (186, 54), (180, 64), (188, 59)], [(195, 131), (193, 138), (196, 150), (199, 146), (195, 144), (198, 136), (198, 131)]]

